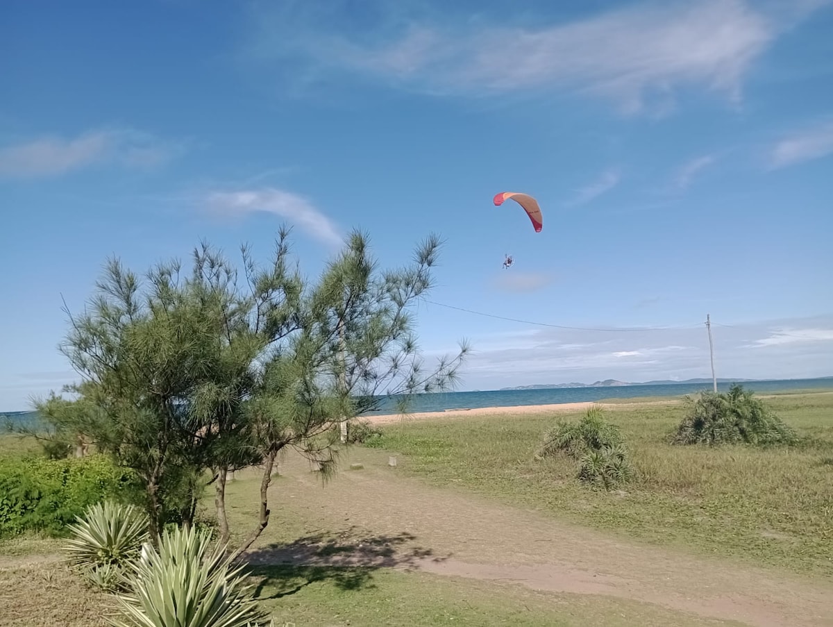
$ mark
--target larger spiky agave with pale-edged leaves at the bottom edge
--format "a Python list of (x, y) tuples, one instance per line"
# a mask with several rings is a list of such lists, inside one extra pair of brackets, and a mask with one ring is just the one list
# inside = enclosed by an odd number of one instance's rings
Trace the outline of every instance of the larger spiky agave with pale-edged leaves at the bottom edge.
[(167, 529), (159, 551), (150, 544), (132, 565), (132, 586), (117, 595), (122, 615), (114, 627), (256, 627), (257, 607), (242, 565), (232, 567), (205, 530)]

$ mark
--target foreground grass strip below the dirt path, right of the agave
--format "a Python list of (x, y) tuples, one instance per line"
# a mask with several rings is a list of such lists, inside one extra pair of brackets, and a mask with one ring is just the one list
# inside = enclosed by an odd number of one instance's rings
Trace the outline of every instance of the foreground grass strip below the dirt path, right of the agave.
[(257, 570), (252, 579), (278, 627), (736, 624), (601, 595), (549, 594), (520, 585), (420, 572), (272, 566)]

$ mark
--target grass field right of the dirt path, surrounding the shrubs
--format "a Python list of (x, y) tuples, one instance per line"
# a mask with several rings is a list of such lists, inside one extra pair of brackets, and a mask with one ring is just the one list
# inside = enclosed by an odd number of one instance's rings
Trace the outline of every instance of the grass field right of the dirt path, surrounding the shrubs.
[(833, 574), (833, 394), (768, 399), (802, 444), (754, 449), (672, 446), (679, 404), (608, 409), (631, 450), (637, 478), (605, 493), (575, 479), (568, 459), (536, 461), (556, 419), (506, 418), (402, 422), (378, 443), (404, 456), (403, 472), (453, 484), (571, 521), (707, 554), (796, 572)]

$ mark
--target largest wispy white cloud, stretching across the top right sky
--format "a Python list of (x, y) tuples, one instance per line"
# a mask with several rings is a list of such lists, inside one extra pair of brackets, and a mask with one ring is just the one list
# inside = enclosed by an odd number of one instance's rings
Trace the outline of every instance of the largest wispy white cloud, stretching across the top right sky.
[(263, 56), (307, 58), (317, 73), (349, 71), (432, 93), (516, 93), (565, 88), (610, 98), (635, 113), (649, 98), (667, 108), (679, 88), (741, 99), (751, 64), (788, 24), (820, 3), (796, 3), (789, 19), (742, 0), (637, 3), (538, 28), (399, 18), (379, 28), (324, 33), (280, 21), (261, 29)]

